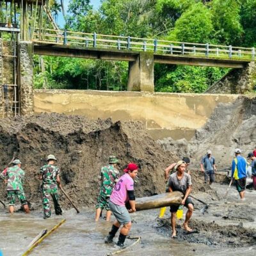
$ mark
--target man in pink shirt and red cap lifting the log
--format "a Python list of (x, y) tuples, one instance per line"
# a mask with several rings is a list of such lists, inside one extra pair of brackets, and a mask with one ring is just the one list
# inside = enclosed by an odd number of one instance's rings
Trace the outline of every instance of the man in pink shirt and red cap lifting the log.
[[(129, 163), (124, 169), (125, 174), (120, 177), (112, 191), (109, 200), (109, 207), (113, 212), (116, 220), (114, 221), (111, 231), (105, 237), (105, 243), (112, 243), (118, 228), (123, 225), (120, 230), (117, 245), (124, 246), (126, 236), (132, 227), (129, 212), (135, 212), (135, 196), (134, 196), (134, 179), (138, 174), (138, 165)], [(128, 211), (125, 203), (129, 202), (131, 209)]]

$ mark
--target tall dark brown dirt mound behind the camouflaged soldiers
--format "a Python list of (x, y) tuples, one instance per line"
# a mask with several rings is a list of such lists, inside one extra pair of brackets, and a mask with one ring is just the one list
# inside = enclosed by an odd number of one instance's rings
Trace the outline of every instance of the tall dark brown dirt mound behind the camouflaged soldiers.
[[(0, 152), (0, 170), (11, 161), (13, 152), (17, 152), (26, 172), (24, 189), (31, 202), (40, 202), (40, 166), (45, 164), (48, 154), (54, 154), (61, 169), (63, 188), (81, 206), (95, 204), (100, 166), (108, 163), (111, 154), (120, 159), (121, 168), (131, 161), (140, 165), (136, 196), (163, 193), (163, 170), (177, 160), (175, 154), (164, 152), (148, 136), (140, 122), (93, 121), (54, 113), (2, 120)], [(1, 182), (1, 198), (4, 194)], [(60, 200), (61, 205), (69, 207), (64, 196)]]

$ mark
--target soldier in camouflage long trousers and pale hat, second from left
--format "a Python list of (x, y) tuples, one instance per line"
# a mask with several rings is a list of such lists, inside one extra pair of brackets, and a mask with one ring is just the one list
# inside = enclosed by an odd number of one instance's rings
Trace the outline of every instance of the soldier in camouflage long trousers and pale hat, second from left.
[(42, 192), (44, 219), (51, 217), (51, 197), (54, 203), (55, 214), (62, 215), (62, 210), (58, 203), (58, 187), (61, 188), (60, 169), (54, 165), (57, 160), (54, 155), (47, 156), (46, 160), (47, 164), (40, 168), (40, 179), (43, 180)]

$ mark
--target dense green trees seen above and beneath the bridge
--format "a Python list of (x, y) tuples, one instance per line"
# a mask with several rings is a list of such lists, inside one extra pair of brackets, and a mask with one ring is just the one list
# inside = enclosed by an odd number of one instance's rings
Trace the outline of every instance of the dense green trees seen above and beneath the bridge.
[[(58, 1), (57, 1), (58, 2)], [(180, 42), (256, 46), (256, 0), (69, 0), (65, 29)], [(55, 8), (55, 14), (60, 8)], [(126, 90), (128, 64), (35, 57), (36, 88)], [(227, 68), (155, 65), (158, 92), (204, 92)]]

